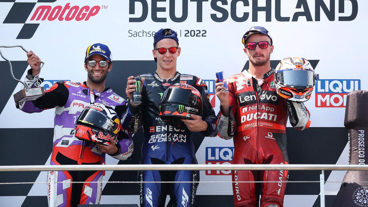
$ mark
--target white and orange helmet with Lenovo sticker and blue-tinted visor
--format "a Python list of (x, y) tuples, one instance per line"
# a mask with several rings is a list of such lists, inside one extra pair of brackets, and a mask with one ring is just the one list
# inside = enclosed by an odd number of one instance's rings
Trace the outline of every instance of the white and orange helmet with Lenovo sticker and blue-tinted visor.
[(309, 61), (302, 57), (286, 57), (275, 70), (275, 87), (280, 97), (294, 102), (311, 98), (317, 75)]

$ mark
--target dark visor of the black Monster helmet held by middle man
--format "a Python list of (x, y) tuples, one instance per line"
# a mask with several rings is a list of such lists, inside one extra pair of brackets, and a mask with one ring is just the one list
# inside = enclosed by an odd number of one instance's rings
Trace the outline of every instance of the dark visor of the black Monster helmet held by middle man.
[[(166, 103), (182, 103), (187, 104), (191, 107), (198, 107), (199, 105), (202, 105), (201, 98), (194, 93), (198, 93), (198, 91), (192, 90), (194, 92), (190, 92), (188, 90), (180, 90), (179, 88), (170, 88), (165, 91), (167, 92), (167, 95), (165, 94), (163, 96), (162, 102)], [(199, 94), (198, 94), (199, 95)]]

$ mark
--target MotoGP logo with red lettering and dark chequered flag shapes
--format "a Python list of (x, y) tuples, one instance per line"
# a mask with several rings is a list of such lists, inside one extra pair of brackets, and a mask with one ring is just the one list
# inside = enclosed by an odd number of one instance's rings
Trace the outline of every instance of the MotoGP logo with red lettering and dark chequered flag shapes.
[[(14, 1), (15, 0), (13, 0), (13, 2)], [(42, 3), (54, 3), (55, 1), (56, 0), (42, 0)], [(10, 0), (0, 0), (0, 3), (1, 2), (9, 3)], [(37, 0), (30, 0), (27, 2), (13, 3), (13, 6), (7, 14), (3, 24), (23, 24), (23, 27), (16, 39), (31, 39), (35, 34), (40, 24), (25, 24), (30, 16), (30, 21), (45, 21), (46, 19), (48, 21), (88, 21), (89, 18), (97, 15), (101, 8), (107, 8), (107, 5), (90, 7), (70, 5), (71, 3), (67, 3), (65, 6), (39, 5), (34, 10), (37, 2)]]

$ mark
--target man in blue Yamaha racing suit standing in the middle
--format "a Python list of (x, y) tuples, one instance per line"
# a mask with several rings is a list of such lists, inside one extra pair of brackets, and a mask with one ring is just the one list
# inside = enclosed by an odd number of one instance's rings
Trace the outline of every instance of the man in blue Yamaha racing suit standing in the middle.
[[(180, 55), (177, 33), (172, 29), (160, 29), (154, 36), (152, 50), (157, 70), (143, 74), (142, 103), (134, 105), (130, 101), (122, 120), (123, 128), (136, 133), (142, 128), (141, 164), (198, 164), (192, 132), (201, 131), (206, 137), (216, 136), (216, 115), (208, 99), (205, 82), (196, 76), (180, 74), (176, 70), (176, 60)], [(131, 99), (136, 81), (128, 77), (126, 94)], [(187, 129), (178, 129), (163, 122), (160, 117), (160, 101), (163, 92), (176, 83), (187, 83), (197, 88), (203, 99), (202, 117), (191, 115), (193, 120), (183, 120)], [(138, 181), (199, 181), (198, 171), (141, 171)], [(194, 205), (198, 183), (140, 183), (141, 207), (161, 207), (165, 205), (167, 193), (173, 206)]]

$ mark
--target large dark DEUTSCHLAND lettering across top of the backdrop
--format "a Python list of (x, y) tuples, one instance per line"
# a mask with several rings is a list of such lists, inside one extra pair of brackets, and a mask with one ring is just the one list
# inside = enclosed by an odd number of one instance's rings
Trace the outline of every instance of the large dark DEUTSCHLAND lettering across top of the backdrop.
[[(158, 5), (158, 0), (151, 1), (151, 12), (149, 12), (147, 0), (129, 0), (129, 14), (134, 15), (137, 12), (135, 17), (129, 18), (129, 22), (143, 22), (146, 20), (149, 13), (151, 13), (151, 19), (154, 22), (167, 22), (167, 18), (162, 16), (169, 16), (170, 20), (173, 22), (184, 22), (187, 20), (188, 14), (196, 15), (196, 21), (202, 22), (203, 10), (207, 10), (208, 7), (213, 11), (205, 12), (205, 14), (210, 13), (210, 18), (215, 22), (224, 22), (229, 18), (229, 16), (231, 20), (235, 22), (250, 21), (250, 16), (252, 16), (252, 22), (258, 22), (259, 15), (265, 15), (266, 21), (270, 22), (273, 20), (272, 14), (275, 14), (275, 19), (279, 22), (296, 22), (298, 21), (298, 18), (300, 18), (301, 21), (304, 21), (304, 18), (307, 21), (321, 21), (321, 17), (324, 18), (323, 16), (327, 17), (329, 21), (335, 21), (337, 11), (337, 9), (335, 10), (335, 4), (337, 4), (339, 11), (337, 14), (340, 15), (338, 21), (353, 21), (358, 14), (357, 0), (331, 0), (329, 6), (326, 5), (324, 0), (315, 0), (314, 4), (310, 1), (308, 4), (306, 0), (297, 0), (296, 4), (295, 1), (293, 1), (294, 4), (290, 4), (289, 1), (266, 1), (266, 6), (259, 6), (257, 4), (258, 1), (251, 0), (232, 0), (230, 3), (227, 0), (191, 0), (190, 3), (188, 1), (183, 1), (183, 4), (176, 4), (176, 1), (171, 0), (163, 1), (165, 1), (166, 4), (160, 2)], [(347, 1), (349, 2), (345, 6)], [(243, 2), (243, 4), (241, 4), (241, 2)], [(249, 8), (250, 2), (251, 8)], [(275, 5), (272, 5), (273, 2), (275, 2)], [(227, 6), (228, 4), (230, 4), (230, 6)], [(177, 7), (180, 7), (181, 10)], [(189, 8), (190, 10), (197, 11), (197, 13), (189, 13)], [(197, 10), (195, 10), (195, 8), (197, 8)], [(273, 8), (275, 9), (274, 11), (272, 11)], [(300, 9), (302, 9), (302, 11), (300, 11)], [(294, 13), (291, 20), (290, 17), (281, 16), (283, 13), (282, 10), (290, 10)], [(314, 20), (312, 18), (311, 10), (315, 11)], [(240, 13), (240, 11), (252, 12)], [(181, 14), (181, 17), (177, 17), (178, 14)]]

